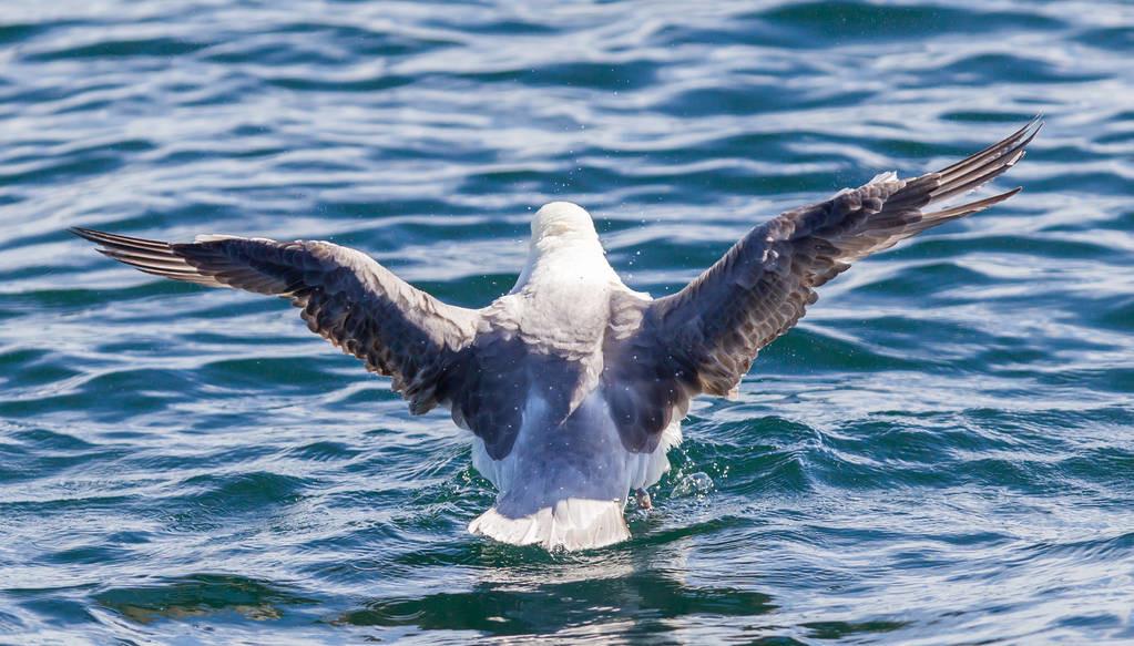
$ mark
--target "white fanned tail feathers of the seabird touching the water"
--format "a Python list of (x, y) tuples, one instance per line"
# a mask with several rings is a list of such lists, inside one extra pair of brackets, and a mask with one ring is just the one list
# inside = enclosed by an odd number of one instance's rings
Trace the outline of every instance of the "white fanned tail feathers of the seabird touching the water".
[(604, 547), (631, 537), (620, 500), (568, 498), (526, 516), (498, 507), (468, 525), (473, 534), (511, 545), (541, 545), (567, 551)]

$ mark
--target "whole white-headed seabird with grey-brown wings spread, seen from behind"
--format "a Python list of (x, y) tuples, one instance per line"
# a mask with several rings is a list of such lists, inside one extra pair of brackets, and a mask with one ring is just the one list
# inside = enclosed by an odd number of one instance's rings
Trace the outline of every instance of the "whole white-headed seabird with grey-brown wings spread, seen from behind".
[(146, 273), (289, 299), (313, 332), (390, 376), (413, 414), (440, 406), (472, 431), (473, 465), (498, 496), (469, 532), (584, 550), (631, 537), (623, 511), (632, 493), (650, 505), (691, 399), (735, 396), (756, 352), (853, 262), (1018, 193), (938, 206), (1012, 168), (1041, 126), (937, 172), (882, 173), (787, 211), (658, 299), (623, 283), (591, 216), (568, 202), (535, 213), (516, 286), (480, 309), (325, 241), (71, 231)]

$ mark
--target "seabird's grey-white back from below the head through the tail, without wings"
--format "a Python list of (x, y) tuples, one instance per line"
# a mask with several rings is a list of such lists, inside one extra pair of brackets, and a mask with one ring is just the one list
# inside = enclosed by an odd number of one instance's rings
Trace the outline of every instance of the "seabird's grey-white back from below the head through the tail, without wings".
[(479, 380), (454, 407), (477, 434), (474, 465), (500, 490), (473, 532), (567, 549), (629, 536), (621, 510), (642, 469), (601, 379), (617, 289), (561, 281), (494, 304), (475, 343)]

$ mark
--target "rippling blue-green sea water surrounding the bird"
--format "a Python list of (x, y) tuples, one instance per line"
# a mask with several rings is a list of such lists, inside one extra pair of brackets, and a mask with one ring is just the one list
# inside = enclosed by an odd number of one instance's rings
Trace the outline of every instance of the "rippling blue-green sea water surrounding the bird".
[[(1134, 5), (53, 0), (0, 14), (0, 644), (1134, 641)], [(670, 294), (1034, 114), (991, 211), (699, 399), (633, 541), (471, 536), (469, 435), (81, 226), (322, 238), (480, 306), (587, 207)]]

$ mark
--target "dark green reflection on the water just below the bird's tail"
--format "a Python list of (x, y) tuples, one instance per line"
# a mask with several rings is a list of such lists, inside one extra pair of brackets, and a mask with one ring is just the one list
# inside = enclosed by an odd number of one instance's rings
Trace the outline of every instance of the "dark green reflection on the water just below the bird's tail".
[(667, 620), (675, 618), (759, 617), (778, 607), (768, 594), (693, 584), (688, 573), (680, 547), (676, 553), (573, 555), (559, 562), (485, 568), (468, 589), (374, 598), (331, 622), (492, 636), (577, 635), (586, 627), (617, 624), (624, 635), (651, 635), (670, 630)]

